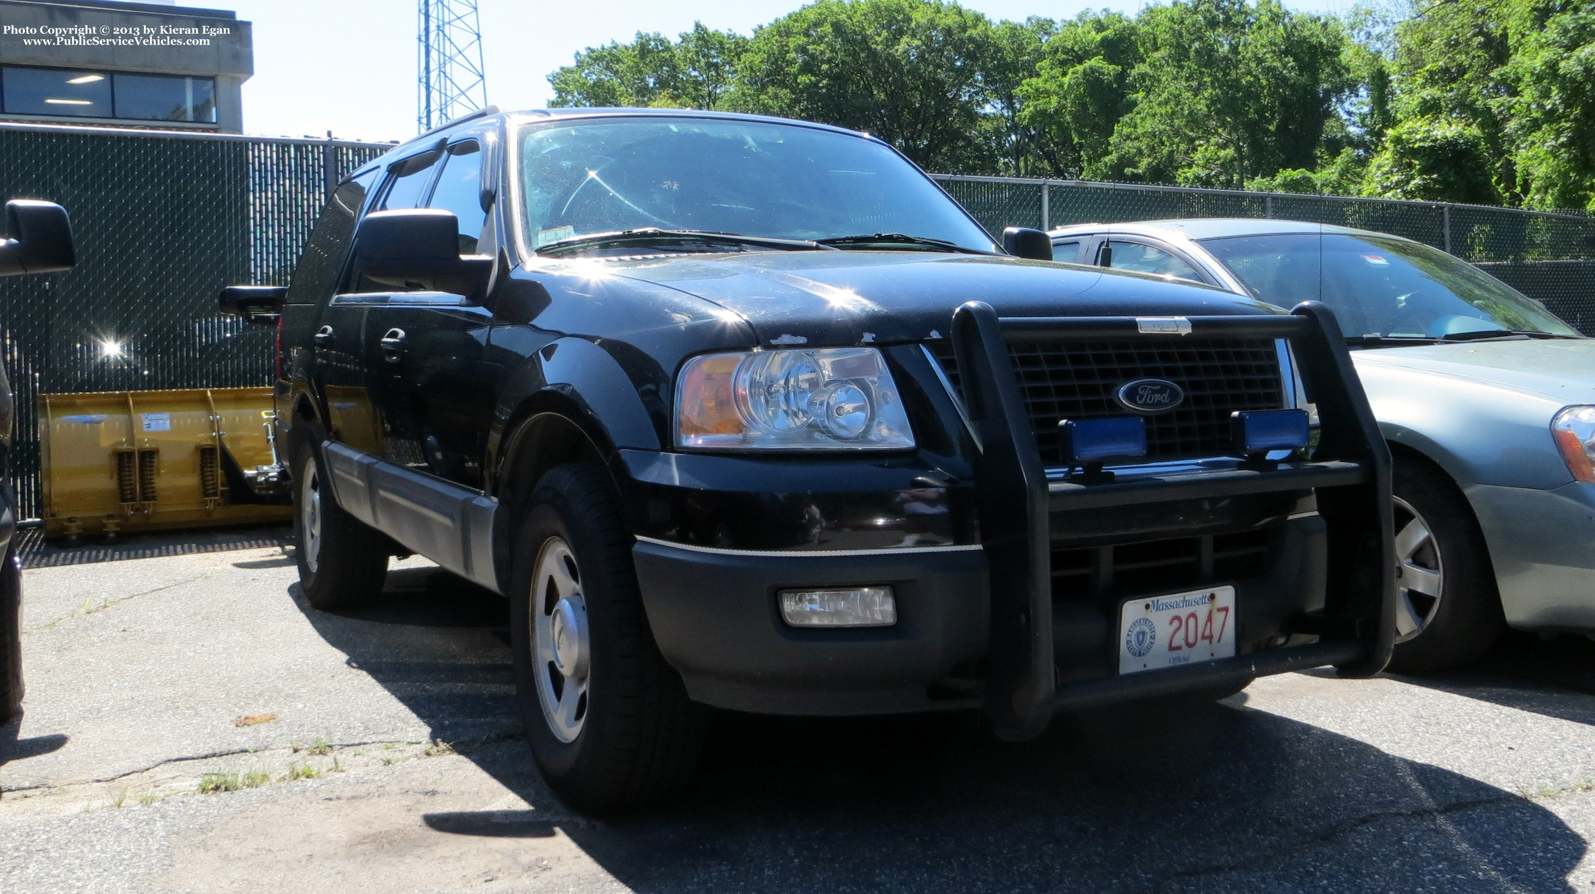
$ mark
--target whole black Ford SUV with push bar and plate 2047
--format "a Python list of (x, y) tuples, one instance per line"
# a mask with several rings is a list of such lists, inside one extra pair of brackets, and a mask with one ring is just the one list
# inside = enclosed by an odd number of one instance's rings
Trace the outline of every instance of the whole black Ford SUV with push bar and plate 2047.
[(702, 707), (1222, 698), (1391, 651), (1388, 453), (1332, 314), (997, 244), (866, 134), (483, 113), (332, 195), (281, 326), (311, 605), (418, 552), (506, 594), (533, 754), (595, 811)]

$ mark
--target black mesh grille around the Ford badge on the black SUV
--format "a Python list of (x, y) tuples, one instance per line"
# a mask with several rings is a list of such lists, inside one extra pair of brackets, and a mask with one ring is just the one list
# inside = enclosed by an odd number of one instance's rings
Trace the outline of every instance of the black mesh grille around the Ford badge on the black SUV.
[[(962, 396), (952, 345), (936, 342), (930, 350)], [(1064, 463), (1057, 421), (1128, 415), (1113, 396), (1136, 378), (1164, 378), (1185, 391), (1174, 410), (1145, 417), (1148, 460), (1227, 455), (1230, 413), (1284, 405), (1279, 353), (1266, 338), (1010, 345), (1008, 356), (1050, 466)]]

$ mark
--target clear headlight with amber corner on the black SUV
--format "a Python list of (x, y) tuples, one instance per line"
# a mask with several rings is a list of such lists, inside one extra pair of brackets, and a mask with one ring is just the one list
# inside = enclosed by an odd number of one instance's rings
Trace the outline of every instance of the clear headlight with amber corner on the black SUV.
[(737, 351), (681, 367), (676, 447), (903, 450), (914, 433), (874, 348)]

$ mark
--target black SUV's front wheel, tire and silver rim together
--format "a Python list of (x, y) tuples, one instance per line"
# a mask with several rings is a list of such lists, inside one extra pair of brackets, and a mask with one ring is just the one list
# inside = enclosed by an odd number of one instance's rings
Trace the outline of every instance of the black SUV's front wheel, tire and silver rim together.
[(550, 469), (514, 538), (517, 701), (544, 779), (592, 814), (675, 795), (697, 768), (703, 712), (654, 643), (608, 473)]

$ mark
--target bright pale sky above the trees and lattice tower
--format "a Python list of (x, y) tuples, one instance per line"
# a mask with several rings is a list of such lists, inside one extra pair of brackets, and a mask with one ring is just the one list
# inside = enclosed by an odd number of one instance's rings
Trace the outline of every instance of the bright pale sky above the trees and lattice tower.
[[(415, 134), (415, 0), (180, 0), (236, 10), (255, 24), (255, 77), (244, 83), (244, 129), (262, 136), (389, 140)], [(799, 0), (478, 0), (488, 102), (538, 109), (547, 75), (587, 46), (627, 42), (638, 30), (676, 35), (695, 19), (751, 34)], [(1086, 8), (1134, 11), (1137, 0), (968, 0), (994, 19), (1070, 18)], [(1286, 0), (1345, 11), (1349, 0)]]

